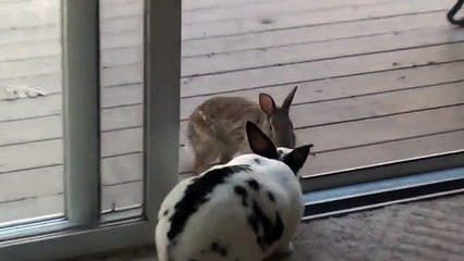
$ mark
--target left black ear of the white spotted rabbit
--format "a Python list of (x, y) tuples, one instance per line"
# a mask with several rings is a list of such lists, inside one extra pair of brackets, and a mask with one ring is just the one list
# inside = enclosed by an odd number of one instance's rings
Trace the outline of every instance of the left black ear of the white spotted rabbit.
[(252, 122), (246, 122), (246, 136), (253, 153), (268, 159), (277, 160), (279, 158), (272, 140)]

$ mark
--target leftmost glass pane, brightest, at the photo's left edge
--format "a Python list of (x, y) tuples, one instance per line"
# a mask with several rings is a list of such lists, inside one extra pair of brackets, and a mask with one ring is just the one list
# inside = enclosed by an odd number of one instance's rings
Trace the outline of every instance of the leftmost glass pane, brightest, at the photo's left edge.
[(60, 1), (0, 2), (0, 226), (62, 215)]

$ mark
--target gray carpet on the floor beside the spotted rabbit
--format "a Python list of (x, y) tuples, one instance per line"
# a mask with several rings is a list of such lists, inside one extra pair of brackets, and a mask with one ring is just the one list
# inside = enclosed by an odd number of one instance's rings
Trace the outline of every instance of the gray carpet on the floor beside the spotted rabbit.
[[(148, 261), (137, 249), (80, 261)], [(272, 261), (464, 261), (464, 195), (303, 224), (291, 257)]]

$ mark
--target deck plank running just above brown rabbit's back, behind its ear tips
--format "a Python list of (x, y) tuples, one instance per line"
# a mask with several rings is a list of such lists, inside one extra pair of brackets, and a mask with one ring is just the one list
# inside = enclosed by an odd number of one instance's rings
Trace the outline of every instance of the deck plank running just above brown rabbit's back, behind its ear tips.
[[(379, 91), (394, 91), (417, 86), (437, 85), (445, 82), (463, 80), (461, 73), (464, 62), (437, 64), (432, 66), (394, 70), (367, 75), (330, 78), (300, 83), (294, 104), (319, 102), (330, 99), (356, 97)], [(258, 94), (268, 92), (276, 99), (284, 97), (294, 85), (279, 85), (260, 89), (246, 89), (221, 94), (253, 99)], [(142, 85), (117, 86), (102, 89), (102, 108), (113, 108), (142, 103)], [(181, 120), (186, 120), (193, 110), (212, 95), (181, 99)], [(14, 102), (0, 102), (0, 122), (35, 116), (58, 115), (61, 113), (61, 96), (51, 95), (37, 99), (20, 99)]]

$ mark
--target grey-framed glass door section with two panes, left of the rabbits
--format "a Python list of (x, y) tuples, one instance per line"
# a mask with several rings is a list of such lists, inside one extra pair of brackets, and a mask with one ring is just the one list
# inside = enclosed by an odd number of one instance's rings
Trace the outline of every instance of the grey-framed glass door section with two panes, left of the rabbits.
[(180, 1), (0, 13), (0, 259), (151, 243), (178, 181)]

